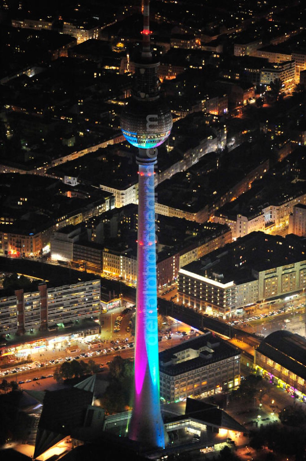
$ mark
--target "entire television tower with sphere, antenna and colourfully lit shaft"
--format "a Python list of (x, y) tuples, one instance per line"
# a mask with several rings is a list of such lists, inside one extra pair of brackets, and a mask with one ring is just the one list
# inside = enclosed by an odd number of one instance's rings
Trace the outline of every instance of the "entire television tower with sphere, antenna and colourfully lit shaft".
[(121, 115), (127, 141), (139, 148), (137, 293), (135, 327), (134, 402), (129, 438), (144, 446), (164, 447), (160, 408), (154, 165), (157, 146), (167, 139), (172, 115), (160, 95), (159, 62), (150, 49), (149, 0), (143, 2), (144, 28), (141, 52), (135, 62), (132, 97)]

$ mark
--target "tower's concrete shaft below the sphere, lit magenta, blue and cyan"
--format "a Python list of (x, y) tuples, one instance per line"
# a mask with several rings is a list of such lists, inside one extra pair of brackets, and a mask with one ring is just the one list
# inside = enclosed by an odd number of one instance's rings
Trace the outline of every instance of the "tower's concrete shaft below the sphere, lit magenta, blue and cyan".
[[(129, 437), (164, 447), (160, 409), (155, 234), (155, 159), (139, 163), (134, 404)], [(145, 165), (144, 165), (145, 163)]]

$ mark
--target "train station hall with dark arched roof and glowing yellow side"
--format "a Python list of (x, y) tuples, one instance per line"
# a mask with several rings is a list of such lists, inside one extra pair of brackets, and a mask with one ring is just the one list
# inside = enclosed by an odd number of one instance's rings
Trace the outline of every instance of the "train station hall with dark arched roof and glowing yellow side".
[(290, 331), (275, 331), (255, 349), (255, 369), (271, 384), (306, 402), (306, 340)]

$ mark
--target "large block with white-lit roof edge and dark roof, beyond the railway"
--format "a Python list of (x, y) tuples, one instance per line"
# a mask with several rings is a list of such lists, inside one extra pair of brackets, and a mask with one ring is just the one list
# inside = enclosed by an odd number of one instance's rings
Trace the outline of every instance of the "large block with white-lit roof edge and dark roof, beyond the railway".
[(302, 239), (252, 232), (180, 268), (178, 301), (231, 316), (237, 308), (306, 288)]

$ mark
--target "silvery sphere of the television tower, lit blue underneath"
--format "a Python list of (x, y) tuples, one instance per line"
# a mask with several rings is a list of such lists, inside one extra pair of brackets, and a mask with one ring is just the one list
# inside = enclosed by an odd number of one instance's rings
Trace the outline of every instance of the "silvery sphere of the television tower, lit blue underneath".
[(135, 147), (150, 149), (160, 146), (172, 129), (172, 114), (166, 104), (133, 97), (121, 114), (121, 131)]

